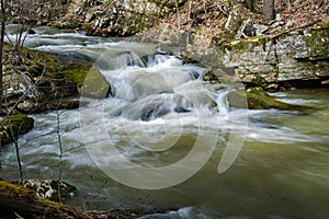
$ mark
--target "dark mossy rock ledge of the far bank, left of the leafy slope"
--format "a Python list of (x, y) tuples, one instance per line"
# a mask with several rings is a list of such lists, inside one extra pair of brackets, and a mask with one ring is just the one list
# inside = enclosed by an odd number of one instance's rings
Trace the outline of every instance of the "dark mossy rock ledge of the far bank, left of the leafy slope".
[(18, 1), (11, 22), (54, 25), (89, 35), (132, 36), (159, 23), (188, 0), (50, 0)]

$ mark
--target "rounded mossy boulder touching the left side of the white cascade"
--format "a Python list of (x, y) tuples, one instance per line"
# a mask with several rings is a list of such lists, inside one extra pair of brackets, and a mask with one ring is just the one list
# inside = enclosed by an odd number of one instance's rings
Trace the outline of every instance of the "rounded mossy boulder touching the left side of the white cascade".
[(65, 76), (79, 88), (79, 93), (86, 97), (105, 99), (109, 96), (111, 85), (106, 78), (95, 68), (71, 65)]

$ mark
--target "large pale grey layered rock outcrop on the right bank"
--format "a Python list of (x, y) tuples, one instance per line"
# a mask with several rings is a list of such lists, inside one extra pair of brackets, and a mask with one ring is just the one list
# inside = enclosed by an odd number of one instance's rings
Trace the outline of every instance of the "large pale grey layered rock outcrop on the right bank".
[(329, 77), (329, 28), (286, 33), (273, 41), (258, 36), (220, 42), (214, 59), (235, 68), (241, 82), (254, 85)]

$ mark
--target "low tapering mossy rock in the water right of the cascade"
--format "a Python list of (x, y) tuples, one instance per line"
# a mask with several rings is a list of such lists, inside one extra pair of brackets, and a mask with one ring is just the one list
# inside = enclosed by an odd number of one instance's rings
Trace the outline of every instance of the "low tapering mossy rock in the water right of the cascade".
[(277, 108), (282, 111), (298, 111), (306, 112), (313, 111), (313, 107), (294, 105), (277, 101), (269, 95), (264, 95), (263, 93), (249, 93), (246, 91), (232, 91), (229, 92), (228, 102), (231, 107), (236, 108), (249, 108), (249, 110), (269, 110), (269, 108)]

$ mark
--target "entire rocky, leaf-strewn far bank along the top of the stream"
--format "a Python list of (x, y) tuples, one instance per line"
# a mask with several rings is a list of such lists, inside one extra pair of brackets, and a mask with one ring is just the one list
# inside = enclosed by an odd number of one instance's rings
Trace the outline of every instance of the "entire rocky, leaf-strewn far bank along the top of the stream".
[[(326, 85), (329, 78), (329, 5), (324, 1), (275, 0), (276, 20), (268, 26), (261, 25), (262, 0), (254, 0), (253, 10), (245, 0), (36, 2), (14, 18), (89, 35), (139, 34), (211, 67), (232, 68), (251, 85)], [(29, 16), (32, 11), (36, 13)], [(12, 10), (13, 15), (19, 12)]]

